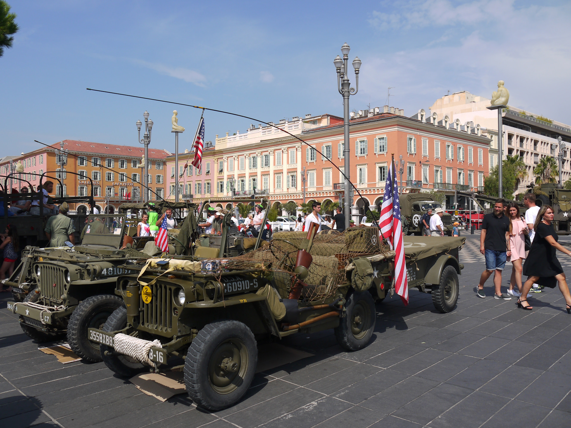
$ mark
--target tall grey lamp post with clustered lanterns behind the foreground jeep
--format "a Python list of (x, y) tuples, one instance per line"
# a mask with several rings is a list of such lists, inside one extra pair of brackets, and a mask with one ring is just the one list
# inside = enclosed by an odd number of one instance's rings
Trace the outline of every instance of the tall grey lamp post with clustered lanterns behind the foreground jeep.
[(337, 58), (333, 60), (333, 64), (335, 64), (335, 69), (337, 70), (337, 90), (339, 90), (339, 94), (343, 95), (343, 156), (345, 159), (345, 168), (343, 173), (345, 174), (345, 228), (349, 228), (349, 220), (351, 217), (351, 204), (353, 203), (352, 200), (349, 199), (349, 195), (351, 195), (351, 184), (349, 181), (350, 177), (350, 169), (351, 169), (351, 159), (349, 159), (349, 155), (351, 151), (349, 151), (349, 95), (355, 95), (357, 91), (359, 91), (359, 68), (361, 68), (361, 60), (359, 56), (355, 56), (353, 59), (353, 68), (355, 68), (355, 88), (351, 87), (351, 83), (349, 83), (349, 70), (348, 70), (348, 61), (349, 61), (349, 50), (351, 48), (347, 43), (344, 43), (341, 46), (341, 54), (343, 54), (343, 58), (337, 55)]

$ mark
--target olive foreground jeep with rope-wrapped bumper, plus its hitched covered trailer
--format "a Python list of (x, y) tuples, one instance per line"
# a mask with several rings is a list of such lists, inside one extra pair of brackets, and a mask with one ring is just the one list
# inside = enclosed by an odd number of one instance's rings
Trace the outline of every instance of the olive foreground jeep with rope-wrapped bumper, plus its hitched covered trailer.
[[(364, 348), (375, 301), (394, 292), (395, 253), (379, 229), (278, 232), (264, 247), (230, 259), (150, 259), (119, 276), (125, 306), (90, 328), (103, 361), (120, 376), (183, 370), (199, 407), (234, 405), (250, 387), (257, 343), (334, 329), (348, 351)], [(409, 288), (455, 308), (458, 251), (465, 238), (405, 237)]]

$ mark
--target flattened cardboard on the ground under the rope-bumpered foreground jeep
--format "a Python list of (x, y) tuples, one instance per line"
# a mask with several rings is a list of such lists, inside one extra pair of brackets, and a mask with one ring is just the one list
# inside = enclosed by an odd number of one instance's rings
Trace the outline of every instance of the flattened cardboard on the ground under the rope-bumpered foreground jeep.
[[(313, 357), (313, 354), (280, 344), (262, 345), (258, 349), (258, 366), (256, 373), (274, 369), (302, 358)], [(182, 372), (142, 373), (129, 379), (138, 389), (160, 401), (186, 393)]]

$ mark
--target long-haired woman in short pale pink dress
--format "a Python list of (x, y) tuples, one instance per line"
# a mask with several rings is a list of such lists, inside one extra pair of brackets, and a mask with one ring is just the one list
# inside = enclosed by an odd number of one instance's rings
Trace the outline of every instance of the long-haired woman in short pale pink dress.
[[(525, 235), (529, 233), (528, 225), (522, 220), (520, 208), (514, 204), (508, 204), (509, 216), (509, 248), (512, 252), (508, 256), (508, 261), (512, 262), (512, 277), (509, 280), (508, 294), (514, 297), (520, 297), (522, 284), (521, 272), (523, 270), (522, 261), (525, 259)], [(517, 285), (519, 292), (513, 289), (514, 284)]]

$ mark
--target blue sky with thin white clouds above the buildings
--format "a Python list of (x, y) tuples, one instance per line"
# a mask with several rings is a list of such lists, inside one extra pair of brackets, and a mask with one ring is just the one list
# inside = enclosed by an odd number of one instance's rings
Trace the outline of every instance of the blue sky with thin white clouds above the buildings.
[[(332, 61), (343, 42), (363, 61), (351, 110), (383, 106), (392, 86), (390, 105), (411, 116), (448, 91), (489, 98), (503, 79), (510, 104), (571, 123), (568, 1), (9, 3), (20, 31), (0, 58), (2, 156), (34, 150), (34, 139), (135, 145), (145, 110), (151, 146), (172, 152), (174, 108), (190, 148), (200, 111), (87, 87), (266, 122), (342, 115)], [(251, 123), (205, 121), (212, 141)]]

